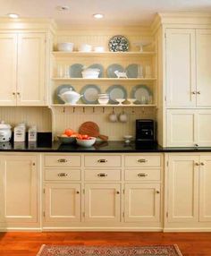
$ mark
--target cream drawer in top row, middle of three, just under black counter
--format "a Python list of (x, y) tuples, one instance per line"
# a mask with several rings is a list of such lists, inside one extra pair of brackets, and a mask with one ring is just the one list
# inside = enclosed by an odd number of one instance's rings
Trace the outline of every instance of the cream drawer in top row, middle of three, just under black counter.
[(86, 167), (120, 167), (121, 156), (85, 156)]

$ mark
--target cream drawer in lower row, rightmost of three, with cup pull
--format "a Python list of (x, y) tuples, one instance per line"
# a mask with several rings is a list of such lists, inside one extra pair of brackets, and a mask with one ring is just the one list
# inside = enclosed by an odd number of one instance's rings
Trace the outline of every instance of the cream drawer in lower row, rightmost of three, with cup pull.
[(159, 181), (160, 169), (125, 170), (125, 180), (134, 182)]

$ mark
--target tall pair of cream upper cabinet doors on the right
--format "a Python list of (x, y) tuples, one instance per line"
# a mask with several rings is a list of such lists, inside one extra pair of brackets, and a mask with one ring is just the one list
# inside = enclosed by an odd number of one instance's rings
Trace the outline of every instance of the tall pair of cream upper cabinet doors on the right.
[(166, 29), (166, 107), (211, 107), (211, 30)]

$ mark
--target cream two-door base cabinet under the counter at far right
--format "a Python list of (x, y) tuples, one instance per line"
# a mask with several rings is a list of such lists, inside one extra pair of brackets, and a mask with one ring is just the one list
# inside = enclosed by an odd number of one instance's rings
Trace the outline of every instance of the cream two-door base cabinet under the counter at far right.
[(210, 154), (168, 154), (166, 165), (165, 228), (210, 228)]

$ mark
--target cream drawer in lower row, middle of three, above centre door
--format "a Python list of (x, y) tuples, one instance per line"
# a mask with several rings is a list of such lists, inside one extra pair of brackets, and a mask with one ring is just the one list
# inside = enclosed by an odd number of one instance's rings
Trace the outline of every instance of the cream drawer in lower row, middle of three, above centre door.
[(85, 171), (86, 181), (120, 181), (121, 170), (86, 170)]

